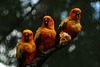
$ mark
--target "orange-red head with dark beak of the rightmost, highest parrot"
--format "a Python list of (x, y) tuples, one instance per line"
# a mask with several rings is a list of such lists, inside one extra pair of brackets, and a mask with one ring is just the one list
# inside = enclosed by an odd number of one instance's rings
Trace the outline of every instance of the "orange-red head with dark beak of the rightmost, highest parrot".
[(81, 10), (79, 8), (72, 9), (71, 12), (70, 12), (69, 18), (71, 20), (75, 20), (75, 21), (80, 22), (80, 19), (81, 19)]

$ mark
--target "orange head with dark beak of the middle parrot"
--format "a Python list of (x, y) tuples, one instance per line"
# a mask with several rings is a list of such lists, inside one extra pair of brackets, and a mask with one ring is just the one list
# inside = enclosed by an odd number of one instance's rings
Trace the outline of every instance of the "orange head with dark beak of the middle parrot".
[(50, 16), (44, 16), (42, 27), (54, 29), (54, 20)]

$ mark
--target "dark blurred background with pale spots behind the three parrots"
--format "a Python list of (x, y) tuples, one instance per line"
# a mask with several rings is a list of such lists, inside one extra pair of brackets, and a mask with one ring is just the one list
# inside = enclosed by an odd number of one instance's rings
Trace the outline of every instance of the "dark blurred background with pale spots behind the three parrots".
[(17, 67), (15, 47), (24, 29), (31, 29), (35, 34), (43, 17), (50, 15), (57, 30), (61, 21), (68, 18), (70, 10), (75, 7), (82, 10), (82, 31), (69, 47), (55, 52), (42, 67), (100, 67), (100, 1), (38, 1), (0, 1), (0, 67)]

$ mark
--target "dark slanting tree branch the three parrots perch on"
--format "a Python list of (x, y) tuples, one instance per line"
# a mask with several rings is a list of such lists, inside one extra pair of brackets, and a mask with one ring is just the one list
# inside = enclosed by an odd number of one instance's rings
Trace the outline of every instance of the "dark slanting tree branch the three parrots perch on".
[(57, 45), (56, 47), (47, 50), (43, 53), (43, 56), (36, 57), (31, 63), (27, 64), (26, 67), (41, 67), (41, 65), (48, 59), (49, 56), (65, 46), (69, 47), (70, 43), (71, 42), (68, 42), (66, 45)]

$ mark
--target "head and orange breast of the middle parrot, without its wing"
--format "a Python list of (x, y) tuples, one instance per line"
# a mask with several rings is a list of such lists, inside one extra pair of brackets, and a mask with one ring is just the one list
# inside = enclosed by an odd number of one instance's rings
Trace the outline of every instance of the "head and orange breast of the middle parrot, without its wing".
[(41, 25), (41, 43), (39, 51), (46, 51), (55, 44), (56, 31), (54, 29), (54, 20), (50, 16), (44, 16)]

